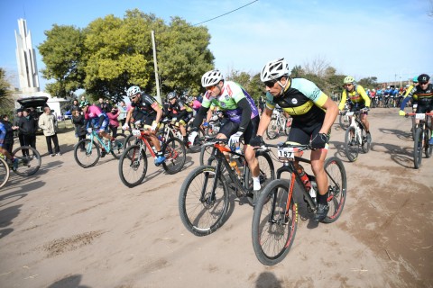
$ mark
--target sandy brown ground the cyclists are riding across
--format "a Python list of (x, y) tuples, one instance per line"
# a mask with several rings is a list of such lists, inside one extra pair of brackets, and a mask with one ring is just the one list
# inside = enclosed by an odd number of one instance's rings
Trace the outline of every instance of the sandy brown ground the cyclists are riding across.
[[(432, 287), (433, 159), (413, 169), (410, 120), (397, 109), (369, 118), (372, 150), (355, 163), (333, 128), (329, 156), (348, 177), (342, 216), (299, 220), (289, 255), (272, 267), (254, 255), (244, 202), (207, 237), (183, 227), (180, 185), (198, 154), (176, 175), (150, 165), (143, 184), (127, 188), (112, 156), (79, 167), (63, 130), (63, 156), (42, 157), (36, 175), (12, 175), (0, 191), (0, 287)], [(47, 153), (43, 136), (37, 148)]]

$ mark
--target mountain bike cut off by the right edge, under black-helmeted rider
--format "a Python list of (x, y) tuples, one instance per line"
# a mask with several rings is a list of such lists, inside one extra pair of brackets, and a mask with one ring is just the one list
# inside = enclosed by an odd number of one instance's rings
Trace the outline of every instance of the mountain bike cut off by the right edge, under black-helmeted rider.
[(433, 145), (428, 144), (428, 140), (431, 137), (431, 121), (428, 123), (428, 119), (433, 116), (433, 112), (429, 113), (407, 113), (407, 116), (414, 116), (415, 119), (419, 120), (419, 124), (415, 129), (415, 138), (413, 142), (413, 163), (415, 169), (421, 166), (422, 161), (422, 150), (426, 153), (426, 157), (431, 156)]

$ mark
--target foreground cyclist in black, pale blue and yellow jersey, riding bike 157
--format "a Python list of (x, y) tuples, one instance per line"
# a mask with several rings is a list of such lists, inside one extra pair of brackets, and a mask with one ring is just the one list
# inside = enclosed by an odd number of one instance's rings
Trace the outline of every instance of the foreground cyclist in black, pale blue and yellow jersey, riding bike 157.
[[(317, 85), (304, 78), (290, 78), (289, 65), (284, 58), (268, 62), (260, 79), (266, 85), (266, 106), (260, 120), (257, 137), (251, 145), (263, 143), (263, 133), (271, 122), (272, 111), (279, 104), (292, 117), (288, 141), (309, 144), (311, 140), (311, 168), (318, 183), (318, 211), (314, 220), (327, 216), (327, 175), (324, 170), (332, 124), (338, 115), (336, 103)], [(302, 169), (298, 163), (297, 168)]]

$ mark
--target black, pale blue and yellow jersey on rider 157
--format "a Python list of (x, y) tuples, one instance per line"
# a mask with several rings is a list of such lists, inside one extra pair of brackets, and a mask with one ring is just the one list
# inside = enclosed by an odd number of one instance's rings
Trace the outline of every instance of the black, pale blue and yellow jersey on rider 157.
[(279, 104), (293, 118), (293, 123), (313, 125), (325, 119), (323, 105), (328, 96), (317, 85), (304, 78), (292, 78), (281, 96), (266, 93), (266, 107), (273, 110)]

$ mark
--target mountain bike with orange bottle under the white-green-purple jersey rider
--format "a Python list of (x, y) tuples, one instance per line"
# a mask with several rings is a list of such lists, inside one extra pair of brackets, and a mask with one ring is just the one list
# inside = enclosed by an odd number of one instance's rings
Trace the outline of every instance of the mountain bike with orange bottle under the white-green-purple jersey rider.
[[(253, 203), (253, 179), (242, 154), (226, 147), (228, 139), (214, 139), (205, 145), (213, 147), (211, 165), (198, 166), (185, 178), (180, 187), (179, 211), (183, 225), (196, 236), (207, 236), (225, 222), (229, 207), (229, 189), (238, 198)], [(230, 154), (227, 160), (224, 153)], [(263, 158), (260, 166), (260, 183), (266, 186), (275, 177), (272, 158), (257, 151)], [(237, 155), (238, 158), (233, 158)], [(214, 161), (214, 163), (211, 163)], [(267, 163), (265, 165), (264, 163)], [(226, 173), (223, 174), (223, 167)]]

